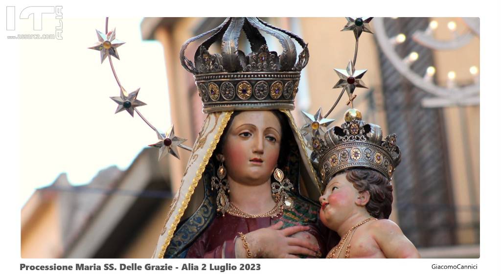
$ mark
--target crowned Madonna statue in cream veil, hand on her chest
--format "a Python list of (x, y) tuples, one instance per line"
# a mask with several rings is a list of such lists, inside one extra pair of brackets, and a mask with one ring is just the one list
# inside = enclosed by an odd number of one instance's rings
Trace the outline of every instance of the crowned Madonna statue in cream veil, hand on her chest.
[[(281, 55), (260, 32), (278, 39)], [(193, 63), (184, 52), (202, 38)], [(216, 42), (221, 52), (209, 53)], [(322, 257), (337, 242), (319, 220), (321, 182), (290, 112), (308, 58), (301, 38), (258, 18), (227, 18), (182, 46), (207, 117), (154, 257)]]

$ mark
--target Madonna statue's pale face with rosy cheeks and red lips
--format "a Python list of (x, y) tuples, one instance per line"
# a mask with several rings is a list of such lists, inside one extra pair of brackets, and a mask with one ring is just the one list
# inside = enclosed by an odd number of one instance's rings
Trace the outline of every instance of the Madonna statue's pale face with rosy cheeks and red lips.
[(248, 185), (270, 180), (282, 139), (277, 116), (271, 111), (243, 111), (229, 127), (222, 149), (228, 176)]

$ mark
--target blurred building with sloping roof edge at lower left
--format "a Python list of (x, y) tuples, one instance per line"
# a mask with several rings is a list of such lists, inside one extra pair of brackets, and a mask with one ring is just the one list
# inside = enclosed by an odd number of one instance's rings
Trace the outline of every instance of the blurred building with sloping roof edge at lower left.
[(87, 185), (61, 174), (21, 211), (21, 257), (150, 257), (172, 198), (165, 165), (149, 148), (126, 171), (107, 168)]

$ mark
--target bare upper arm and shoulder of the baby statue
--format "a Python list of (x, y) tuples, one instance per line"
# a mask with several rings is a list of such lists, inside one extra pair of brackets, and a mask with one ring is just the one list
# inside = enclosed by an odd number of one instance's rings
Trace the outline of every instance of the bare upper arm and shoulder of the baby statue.
[(398, 225), (389, 219), (379, 219), (371, 227), (379, 248), (387, 258), (420, 258), (412, 242)]

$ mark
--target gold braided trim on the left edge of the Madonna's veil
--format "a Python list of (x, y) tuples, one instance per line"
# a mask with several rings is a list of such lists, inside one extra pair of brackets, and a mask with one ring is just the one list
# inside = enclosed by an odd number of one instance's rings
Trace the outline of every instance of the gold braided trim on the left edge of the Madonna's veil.
[[(188, 203), (191, 199), (191, 195), (195, 191), (195, 187), (198, 184), (198, 181), (200, 181), (200, 178), (202, 177), (202, 173), (205, 170), (205, 166), (207, 166), (207, 163), (209, 162), (210, 156), (212, 156), (212, 152), (217, 146), (217, 143), (219, 142), (219, 138), (221, 138), (222, 132), (224, 131), (224, 128), (226, 127), (226, 124), (229, 121), (229, 118), (231, 117), (231, 114), (233, 111), (228, 111), (224, 115), (224, 117), (221, 120), (221, 125), (217, 129), (217, 132), (214, 136), (214, 140), (212, 140), (212, 143), (210, 144), (209, 148), (207, 149), (207, 153), (203, 157), (202, 162), (200, 163), (200, 166), (198, 167), (198, 170), (196, 171), (195, 178), (193, 178), (193, 181), (191, 182), (190, 187), (188, 188), (188, 193), (186, 193), (183, 202), (181, 203), (181, 208), (179, 208), (179, 212), (177, 213), (176, 217), (174, 218), (174, 222), (172, 222), (172, 225), (170, 226), (169, 232), (167, 233), (167, 237), (165, 238), (165, 242), (162, 245), (162, 248), (160, 252), (158, 253), (158, 258), (163, 258), (163, 255), (165, 254), (165, 250), (167, 250), (167, 246), (169, 246), (170, 240), (172, 239), (172, 236), (174, 236), (174, 231), (177, 227), (177, 224), (179, 224), (179, 221), (181, 220), (181, 217), (184, 214), (184, 211), (186, 210), (186, 207), (188, 207)], [(217, 121), (215, 122), (217, 125)]]

